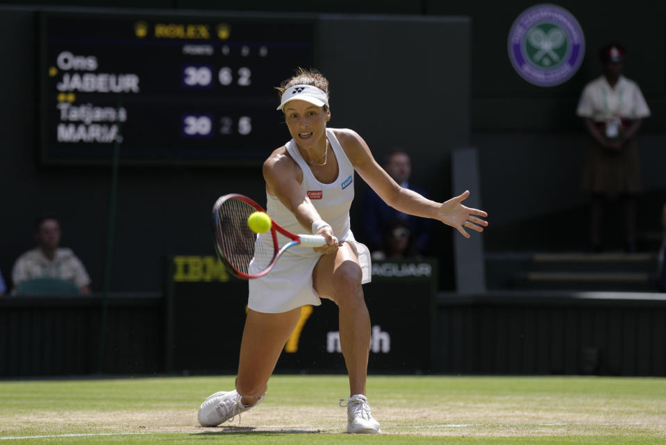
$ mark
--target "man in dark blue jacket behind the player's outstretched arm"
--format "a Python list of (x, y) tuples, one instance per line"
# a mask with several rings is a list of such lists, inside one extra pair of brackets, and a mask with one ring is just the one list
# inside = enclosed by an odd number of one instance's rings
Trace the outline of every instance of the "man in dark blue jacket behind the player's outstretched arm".
[[(424, 190), (410, 184), (411, 161), (409, 155), (404, 151), (391, 151), (386, 158), (384, 169), (398, 185), (428, 197)], [(363, 238), (361, 240), (367, 244), (371, 252), (383, 250), (383, 234), (390, 230), (396, 221), (402, 221), (413, 236), (411, 253), (425, 255), (430, 246), (432, 219), (399, 212), (386, 205), (375, 192), (367, 190), (363, 205)]]

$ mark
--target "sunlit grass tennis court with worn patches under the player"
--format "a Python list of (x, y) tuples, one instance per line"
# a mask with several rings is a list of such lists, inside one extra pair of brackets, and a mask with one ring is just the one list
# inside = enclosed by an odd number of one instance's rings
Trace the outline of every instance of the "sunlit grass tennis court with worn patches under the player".
[(232, 387), (232, 376), (0, 381), (0, 443), (666, 444), (664, 378), (370, 376), (378, 436), (344, 433), (347, 376), (274, 376), (240, 423), (201, 428), (203, 398)]

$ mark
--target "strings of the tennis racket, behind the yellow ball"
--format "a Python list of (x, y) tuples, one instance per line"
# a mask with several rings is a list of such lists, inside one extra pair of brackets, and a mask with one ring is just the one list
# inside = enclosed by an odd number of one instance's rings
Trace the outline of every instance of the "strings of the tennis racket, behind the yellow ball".
[(247, 226), (247, 218), (253, 212), (256, 208), (240, 199), (227, 199), (217, 209), (217, 249), (226, 262), (242, 274), (262, 271), (274, 256), (270, 233), (262, 240)]

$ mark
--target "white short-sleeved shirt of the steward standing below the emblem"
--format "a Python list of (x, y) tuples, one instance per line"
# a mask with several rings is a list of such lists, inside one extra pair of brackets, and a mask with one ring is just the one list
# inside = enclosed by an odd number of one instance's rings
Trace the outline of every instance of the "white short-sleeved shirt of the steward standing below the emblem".
[(611, 117), (642, 119), (650, 115), (650, 109), (634, 81), (619, 76), (615, 87), (611, 87), (606, 77), (601, 76), (585, 85), (576, 115), (591, 117), (597, 122)]

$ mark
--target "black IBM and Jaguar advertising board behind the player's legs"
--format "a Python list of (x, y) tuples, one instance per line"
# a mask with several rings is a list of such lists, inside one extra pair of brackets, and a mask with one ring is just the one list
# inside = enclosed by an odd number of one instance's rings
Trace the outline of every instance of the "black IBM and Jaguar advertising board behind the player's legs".
[[(374, 262), (363, 286), (370, 314), (369, 373), (431, 369), (437, 265), (432, 259)], [(247, 282), (228, 275), (213, 256), (169, 260), (167, 369), (233, 373), (247, 308)], [(338, 307), (306, 305), (276, 373), (345, 373)]]

